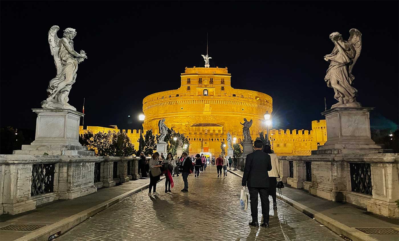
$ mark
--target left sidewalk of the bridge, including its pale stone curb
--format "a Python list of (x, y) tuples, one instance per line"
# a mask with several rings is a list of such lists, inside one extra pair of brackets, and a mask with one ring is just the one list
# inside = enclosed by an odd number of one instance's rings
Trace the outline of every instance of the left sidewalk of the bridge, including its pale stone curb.
[[(161, 177), (161, 180), (164, 178), (164, 176)], [(149, 183), (149, 178), (138, 179), (125, 182), (119, 186), (101, 188), (93, 194), (73, 200), (57, 200), (46, 203), (35, 210), (25, 213), (17, 215), (2, 214), (0, 216), (0, 229), (11, 224), (43, 225), (43, 227), (25, 227), (31, 231), (0, 230), (0, 240), (49, 240), (49, 236), (58, 232), (64, 233), (123, 198), (148, 188)]]

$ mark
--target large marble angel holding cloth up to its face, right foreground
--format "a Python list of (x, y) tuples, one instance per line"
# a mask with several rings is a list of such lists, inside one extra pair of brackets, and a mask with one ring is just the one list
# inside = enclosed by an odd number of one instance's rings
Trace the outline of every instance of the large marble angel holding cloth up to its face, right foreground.
[(338, 101), (331, 108), (361, 107), (356, 101), (358, 90), (352, 86), (355, 79), (352, 69), (361, 52), (361, 32), (352, 28), (349, 33), (348, 41), (342, 39), (342, 35), (338, 32), (330, 34), (334, 49), (332, 53), (324, 56), (324, 60), (330, 62), (324, 81), (328, 87), (334, 89), (334, 98)]

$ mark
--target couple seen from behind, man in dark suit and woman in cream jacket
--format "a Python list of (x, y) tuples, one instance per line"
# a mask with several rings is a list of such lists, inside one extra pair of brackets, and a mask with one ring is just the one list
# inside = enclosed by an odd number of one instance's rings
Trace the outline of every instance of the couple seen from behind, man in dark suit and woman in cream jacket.
[(276, 184), (280, 177), (279, 159), (269, 145), (264, 145), (262, 140), (255, 140), (255, 151), (248, 154), (245, 159), (245, 168), (242, 179), (243, 188), (248, 187), (251, 200), (251, 226), (258, 223), (258, 194), (261, 197), (263, 223), (261, 226), (269, 228), (269, 195), (273, 199), (273, 210), (277, 210)]

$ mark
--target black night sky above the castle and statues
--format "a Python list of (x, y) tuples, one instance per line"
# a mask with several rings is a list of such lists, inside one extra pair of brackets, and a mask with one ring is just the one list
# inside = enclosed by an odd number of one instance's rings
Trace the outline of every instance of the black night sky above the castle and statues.
[[(376, 107), (372, 126), (398, 123), (398, 1), (367, 2), (1, 2), (1, 126), (35, 128), (55, 65), (47, 33), (75, 28), (79, 65), (69, 103), (85, 125), (138, 128), (127, 116), (151, 93), (180, 86), (184, 67), (227, 66), (232, 86), (273, 97), (275, 128), (309, 129), (336, 103), (324, 82), (328, 36), (363, 34), (354, 86)], [(396, 123), (396, 124), (395, 124)]]

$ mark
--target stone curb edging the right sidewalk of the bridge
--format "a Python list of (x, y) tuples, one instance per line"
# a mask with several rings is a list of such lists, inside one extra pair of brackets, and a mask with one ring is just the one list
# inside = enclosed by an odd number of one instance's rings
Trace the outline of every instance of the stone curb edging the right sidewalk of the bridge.
[[(230, 170), (228, 170), (228, 171), (240, 178), (243, 178), (243, 176), (241, 176), (238, 173), (232, 172)], [(331, 231), (333, 231), (334, 233), (338, 234), (340, 237), (342, 237), (346, 240), (348, 240), (348, 238), (349, 238), (352, 241), (378, 241), (378, 239), (370, 237), (369, 235), (363, 233), (362, 231), (359, 231), (358, 229), (355, 229), (353, 227), (349, 227), (343, 223), (340, 223), (340, 222), (336, 221), (335, 219), (332, 219), (332, 218), (330, 218), (314, 209), (311, 209), (310, 207), (307, 207), (301, 203), (298, 203), (297, 201), (294, 201), (284, 195), (281, 195), (281, 197), (279, 195), (277, 195), (276, 197), (282, 201), (285, 201), (292, 207), (295, 207), (302, 213), (305, 213), (310, 218), (313, 218), (318, 223), (321, 223), (322, 225), (326, 226), (328, 229), (330, 229)]]

